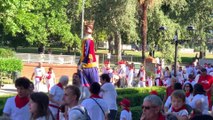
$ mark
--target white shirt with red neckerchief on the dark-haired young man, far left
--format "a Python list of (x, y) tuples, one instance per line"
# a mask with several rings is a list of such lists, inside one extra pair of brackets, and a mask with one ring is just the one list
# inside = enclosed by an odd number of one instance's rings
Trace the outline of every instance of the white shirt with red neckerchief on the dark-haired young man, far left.
[(19, 96), (8, 98), (3, 113), (8, 114), (11, 120), (30, 120), (29, 98)]

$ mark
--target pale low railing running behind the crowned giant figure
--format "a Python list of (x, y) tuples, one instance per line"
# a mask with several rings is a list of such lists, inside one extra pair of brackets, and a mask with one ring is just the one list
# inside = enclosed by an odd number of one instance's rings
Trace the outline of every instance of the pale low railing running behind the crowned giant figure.
[[(26, 63), (43, 62), (49, 64), (71, 64), (77, 65), (80, 56), (75, 55), (54, 55), (54, 54), (34, 54), (34, 53), (16, 53), (17, 58)], [(107, 54), (97, 55), (97, 61), (99, 64), (103, 64), (107, 60)], [(141, 57), (135, 57), (131, 55), (122, 55), (122, 59), (129, 62), (141, 62)], [(110, 62), (117, 64), (117, 56), (111, 55)]]

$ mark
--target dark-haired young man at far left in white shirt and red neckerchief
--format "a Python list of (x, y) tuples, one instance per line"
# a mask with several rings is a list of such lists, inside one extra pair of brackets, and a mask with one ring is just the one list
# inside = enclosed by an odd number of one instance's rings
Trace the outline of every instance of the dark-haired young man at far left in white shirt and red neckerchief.
[(11, 120), (29, 120), (30, 80), (20, 77), (16, 79), (15, 87), (17, 95), (7, 99), (3, 109), (3, 116), (9, 117)]

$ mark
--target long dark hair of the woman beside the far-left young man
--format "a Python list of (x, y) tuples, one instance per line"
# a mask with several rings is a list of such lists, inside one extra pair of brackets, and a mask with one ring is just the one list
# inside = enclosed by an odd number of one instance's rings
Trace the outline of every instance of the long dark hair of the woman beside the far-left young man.
[(34, 92), (30, 95), (30, 99), (37, 104), (37, 113), (32, 115), (34, 119), (48, 115), (49, 98), (45, 93)]

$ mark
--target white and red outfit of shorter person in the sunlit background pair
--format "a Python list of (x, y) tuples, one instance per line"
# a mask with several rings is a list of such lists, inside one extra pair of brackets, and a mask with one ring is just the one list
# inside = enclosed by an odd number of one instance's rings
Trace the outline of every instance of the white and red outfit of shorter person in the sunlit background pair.
[(55, 85), (55, 73), (54, 72), (47, 72), (46, 74), (46, 85), (48, 88), (48, 91), (51, 90), (51, 88)]

